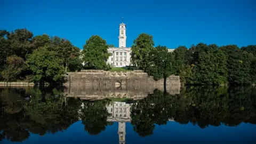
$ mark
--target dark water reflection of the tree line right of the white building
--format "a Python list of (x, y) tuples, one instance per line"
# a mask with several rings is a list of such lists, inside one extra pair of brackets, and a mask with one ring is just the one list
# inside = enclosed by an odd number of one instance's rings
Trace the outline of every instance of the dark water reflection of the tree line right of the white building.
[(173, 118), (180, 124), (209, 126), (255, 124), (255, 87), (187, 87), (179, 95), (155, 90), (131, 108), (134, 131), (142, 137), (153, 134), (154, 124)]

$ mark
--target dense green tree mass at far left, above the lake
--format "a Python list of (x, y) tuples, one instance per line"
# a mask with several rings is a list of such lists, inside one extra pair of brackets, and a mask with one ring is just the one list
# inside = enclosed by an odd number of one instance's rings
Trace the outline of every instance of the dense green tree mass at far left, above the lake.
[(69, 70), (79, 70), (78, 47), (65, 38), (27, 29), (0, 30), (0, 78), (2, 81), (60, 82)]

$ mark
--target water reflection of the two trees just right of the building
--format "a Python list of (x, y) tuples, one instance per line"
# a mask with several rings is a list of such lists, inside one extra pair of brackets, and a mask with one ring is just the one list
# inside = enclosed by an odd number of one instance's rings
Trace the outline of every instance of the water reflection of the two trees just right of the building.
[(171, 107), (169, 95), (155, 90), (154, 94), (149, 94), (131, 107), (133, 130), (141, 137), (153, 134), (154, 124), (166, 124), (169, 120)]

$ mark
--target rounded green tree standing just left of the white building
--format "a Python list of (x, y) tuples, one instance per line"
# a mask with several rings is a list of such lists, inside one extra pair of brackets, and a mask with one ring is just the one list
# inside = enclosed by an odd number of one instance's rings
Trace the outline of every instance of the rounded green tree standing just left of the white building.
[(110, 69), (106, 61), (110, 54), (108, 53), (107, 42), (100, 36), (91, 36), (83, 46), (82, 57), (85, 66), (95, 69)]

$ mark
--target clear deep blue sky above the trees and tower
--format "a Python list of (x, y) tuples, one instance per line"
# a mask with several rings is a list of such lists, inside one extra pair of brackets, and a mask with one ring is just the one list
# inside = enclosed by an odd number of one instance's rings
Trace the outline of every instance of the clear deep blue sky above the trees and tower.
[(92, 35), (118, 46), (118, 25), (127, 44), (141, 33), (170, 48), (203, 42), (256, 44), (256, 0), (0, 0), (0, 29), (27, 28), (34, 35), (67, 38), (80, 48)]

